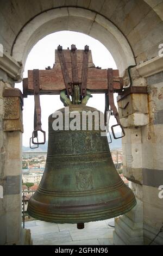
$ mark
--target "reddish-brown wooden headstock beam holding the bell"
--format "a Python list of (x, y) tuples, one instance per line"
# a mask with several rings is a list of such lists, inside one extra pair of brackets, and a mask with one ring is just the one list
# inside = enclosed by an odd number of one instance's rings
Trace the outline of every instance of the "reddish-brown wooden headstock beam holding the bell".
[[(72, 63), (71, 51), (62, 50), (64, 52), (66, 66), (70, 79), (72, 80)], [(82, 65), (83, 50), (77, 50), (77, 66), (79, 83), (82, 82)], [(64, 77), (62, 75), (61, 65), (58, 58), (57, 50), (55, 50), (55, 65), (50, 70), (39, 70), (40, 94), (59, 94), (65, 89)], [(114, 89), (123, 87), (122, 78), (119, 77), (119, 71), (113, 70)], [(87, 89), (92, 93), (105, 93), (108, 89), (108, 72), (106, 69), (95, 68), (92, 62), (92, 54), (89, 51), (89, 63), (87, 72)], [(28, 70), (28, 79), (23, 80), (24, 95), (33, 94), (33, 70)]]

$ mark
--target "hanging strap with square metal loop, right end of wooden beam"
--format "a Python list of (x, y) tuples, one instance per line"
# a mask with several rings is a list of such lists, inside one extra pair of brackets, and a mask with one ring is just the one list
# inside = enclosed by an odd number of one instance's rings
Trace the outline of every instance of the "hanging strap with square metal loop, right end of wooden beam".
[[(125, 136), (125, 132), (124, 132), (123, 126), (120, 123), (120, 116), (118, 114), (117, 108), (116, 108), (115, 103), (114, 103), (114, 88), (113, 88), (113, 71), (112, 71), (112, 69), (108, 69), (108, 97), (109, 97), (110, 109), (112, 111), (112, 114), (114, 115), (114, 117), (117, 120), (117, 124), (111, 126), (112, 135), (114, 136), (115, 139), (122, 138), (122, 137)], [(123, 135), (121, 137), (117, 138), (115, 136), (114, 127), (118, 126), (118, 125), (122, 129)]]

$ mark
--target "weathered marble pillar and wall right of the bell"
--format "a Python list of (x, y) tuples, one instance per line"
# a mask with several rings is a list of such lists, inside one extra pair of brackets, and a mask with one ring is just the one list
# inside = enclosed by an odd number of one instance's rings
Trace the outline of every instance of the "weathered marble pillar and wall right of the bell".
[[(136, 106), (128, 114), (120, 108), (120, 117), (126, 127), (122, 138), (123, 173), (130, 180), (137, 205), (116, 219), (116, 245), (148, 245), (163, 225), (163, 198), (159, 198), (159, 186), (163, 185), (163, 73), (156, 73), (155, 66), (156, 74), (144, 78), (137, 69), (132, 70), (133, 84), (147, 86), (148, 95), (143, 101), (136, 95), (118, 103), (120, 107), (128, 100), (130, 106)], [(135, 113), (139, 118), (135, 116), (130, 122), (130, 115)], [(163, 245), (163, 234), (152, 244)]]

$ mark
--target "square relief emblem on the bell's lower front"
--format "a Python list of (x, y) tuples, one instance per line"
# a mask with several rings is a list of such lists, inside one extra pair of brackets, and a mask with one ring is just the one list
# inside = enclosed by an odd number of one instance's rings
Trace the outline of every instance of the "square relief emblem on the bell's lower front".
[(78, 170), (76, 172), (76, 187), (79, 191), (93, 189), (92, 172)]

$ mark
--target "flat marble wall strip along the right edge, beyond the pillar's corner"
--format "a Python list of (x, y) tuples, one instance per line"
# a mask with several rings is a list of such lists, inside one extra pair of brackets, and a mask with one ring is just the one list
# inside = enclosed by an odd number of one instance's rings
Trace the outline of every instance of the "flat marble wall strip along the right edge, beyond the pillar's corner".
[[(147, 77), (149, 124), (142, 127), (142, 174), (144, 202), (144, 239), (148, 244), (163, 226), (163, 72)], [(163, 196), (163, 193), (162, 193)], [(163, 234), (153, 244), (163, 244)]]

